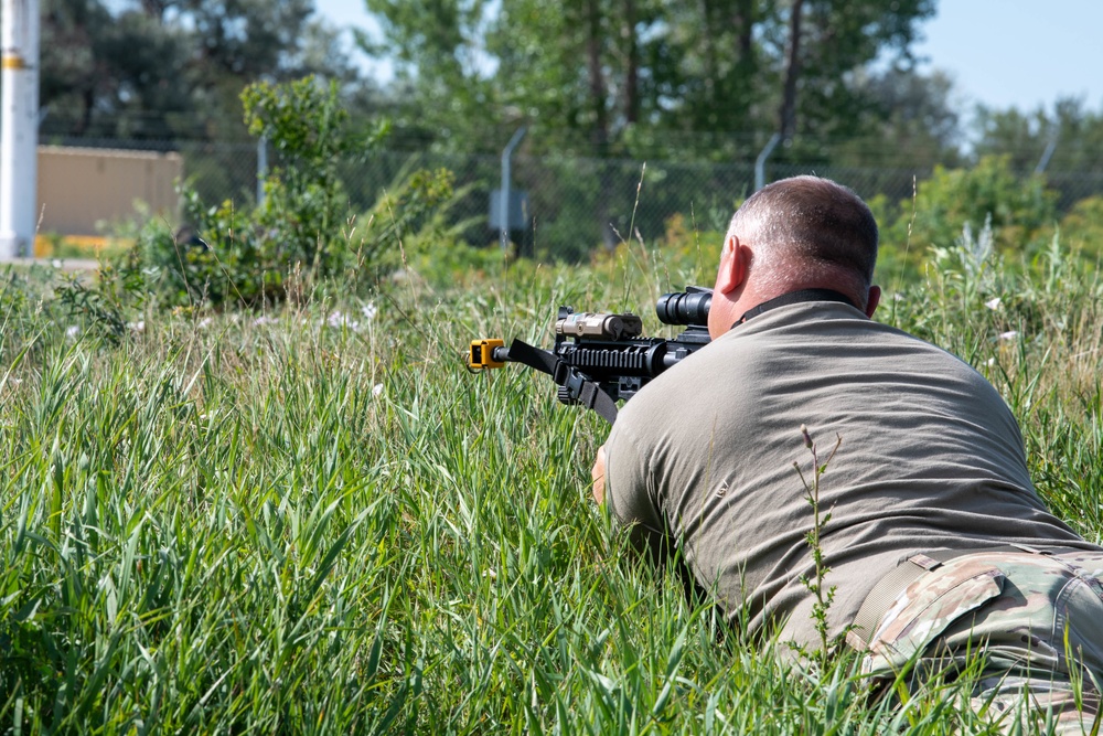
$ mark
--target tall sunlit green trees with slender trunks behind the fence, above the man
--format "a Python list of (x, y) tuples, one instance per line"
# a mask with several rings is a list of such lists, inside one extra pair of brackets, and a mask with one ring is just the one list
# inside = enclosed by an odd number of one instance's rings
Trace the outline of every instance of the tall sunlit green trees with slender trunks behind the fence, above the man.
[[(383, 38), (364, 45), (398, 60), (400, 127), (419, 141), (495, 148), (526, 122), (540, 129), (534, 145), (560, 151), (728, 160), (753, 158), (774, 130), (806, 159), (831, 153), (824, 140), (891, 127), (868, 67), (879, 61), (887, 82), (913, 73), (934, 12), (933, 0), (365, 1)], [(910, 92), (944, 107), (941, 79)]]

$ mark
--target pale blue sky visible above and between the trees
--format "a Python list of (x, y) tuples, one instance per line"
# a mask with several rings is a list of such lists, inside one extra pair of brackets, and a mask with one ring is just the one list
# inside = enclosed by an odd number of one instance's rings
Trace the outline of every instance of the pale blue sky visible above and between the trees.
[[(364, 0), (315, 0), (339, 26), (373, 28)], [(914, 46), (947, 72), (962, 111), (1051, 108), (1061, 96), (1103, 109), (1103, 0), (941, 0)], [(383, 70), (381, 74), (386, 74)]]

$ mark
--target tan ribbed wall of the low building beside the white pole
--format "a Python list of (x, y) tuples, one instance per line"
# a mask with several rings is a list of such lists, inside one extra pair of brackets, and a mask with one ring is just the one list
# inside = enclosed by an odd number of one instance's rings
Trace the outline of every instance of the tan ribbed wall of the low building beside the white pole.
[(95, 235), (98, 222), (131, 217), (135, 201), (175, 226), (179, 153), (39, 147), (40, 233)]

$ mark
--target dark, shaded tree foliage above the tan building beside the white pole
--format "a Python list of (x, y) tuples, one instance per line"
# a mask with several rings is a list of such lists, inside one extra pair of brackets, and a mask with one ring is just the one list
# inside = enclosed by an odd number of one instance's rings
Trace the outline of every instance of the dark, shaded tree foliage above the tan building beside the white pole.
[(242, 137), (260, 78), (357, 73), (313, 0), (43, 0), (46, 137)]

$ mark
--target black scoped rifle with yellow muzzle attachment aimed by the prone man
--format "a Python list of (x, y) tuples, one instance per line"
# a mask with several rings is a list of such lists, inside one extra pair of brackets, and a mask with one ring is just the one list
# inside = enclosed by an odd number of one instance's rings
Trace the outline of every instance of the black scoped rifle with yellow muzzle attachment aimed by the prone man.
[(656, 375), (708, 344), (711, 303), (713, 290), (698, 286), (660, 297), (655, 303), (658, 321), (686, 328), (673, 340), (640, 337), (643, 320), (631, 312), (575, 312), (559, 307), (552, 350), (521, 340), (508, 348), (497, 339), (472, 340), (468, 369), (522, 363), (550, 375), (559, 386), (561, 403), (581, 404), (613, 424), (618, 401), (635, 396)]

